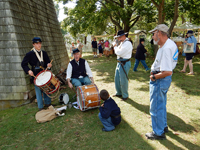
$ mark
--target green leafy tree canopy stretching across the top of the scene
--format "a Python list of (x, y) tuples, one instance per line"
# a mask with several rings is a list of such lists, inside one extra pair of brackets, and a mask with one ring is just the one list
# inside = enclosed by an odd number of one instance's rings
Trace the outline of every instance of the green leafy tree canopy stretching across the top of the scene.
[[(63, 4), (70, 0), (62, 1)], [(165, 23), (170, 33), (178, 17), (200, 24), (198, 0), (76, 0), (74, 9), (65, 8), (68, 15), (61, 23), (72, 36), (79, 34), (114, 34), (123, 29), (150, 28)]]

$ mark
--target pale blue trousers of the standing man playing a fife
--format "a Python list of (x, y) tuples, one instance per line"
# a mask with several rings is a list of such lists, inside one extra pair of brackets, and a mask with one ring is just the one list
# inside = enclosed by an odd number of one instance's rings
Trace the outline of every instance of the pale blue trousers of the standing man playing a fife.
[[(127, 75), (130, 68), (131, 68), (131, 62), (128, 61), (124, 65), (124, 70), (126, 71)], [(128, 97), (128, 79), (126, 77), (126, 74), (124, 73), (124, 70), (121, 64), (118, 62), (116, 70), (115, 70), (115, 89), (116, 89), (116, 95), (122, 95), (123, 98), (127, 98)]]

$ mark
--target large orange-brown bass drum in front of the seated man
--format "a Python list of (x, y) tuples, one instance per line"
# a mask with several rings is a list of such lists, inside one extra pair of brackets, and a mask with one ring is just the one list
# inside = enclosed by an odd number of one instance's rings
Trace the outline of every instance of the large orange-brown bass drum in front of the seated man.
[(77, 87), (77, 103), (81, 111), (100, 106), (99, 90), (95, 84)]

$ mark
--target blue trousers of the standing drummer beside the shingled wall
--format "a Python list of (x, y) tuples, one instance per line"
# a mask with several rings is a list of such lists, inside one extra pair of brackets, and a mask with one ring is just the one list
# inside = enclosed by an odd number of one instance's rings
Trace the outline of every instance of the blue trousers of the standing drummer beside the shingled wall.
[(44, 103), (45, 103), (46, 105), (51, 104), (51, 98), (49, 98), (49, 97), (46, 95), (46, 93), (42, 92), (42, 91), (40, 90), (40, 88), (37, 87), (36, 85), (35, 85), (35, 93), (36, 93), (36, 99), (37, 99), (37, 103), (38, 103), (38, 108), (39, 108), (39, 109), (41, 109), (41, 108), (44, 107), (44, 105), (43, 105), (43, 99), (42, 99), (42, 93), (43, 93), (43, 97), (44, 97)]

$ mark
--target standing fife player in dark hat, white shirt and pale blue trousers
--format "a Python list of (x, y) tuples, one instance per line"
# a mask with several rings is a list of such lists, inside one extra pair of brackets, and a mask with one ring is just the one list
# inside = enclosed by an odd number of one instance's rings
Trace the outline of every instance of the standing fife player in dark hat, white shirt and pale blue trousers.
[(118, 40), (121, 42), (118, 46), (117, 43), (113, 43), (115, 54), (117, 55), (117, 67), (115, 70), (115, 89), (116, 94), (114, 97), (122, 97), (122, 100), (128, 99), (128, 72), (131, 67), (130, 58), (132, 56), (133, 46), (128, 38), (127, 33), (123, 30), (118, 31)]

